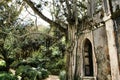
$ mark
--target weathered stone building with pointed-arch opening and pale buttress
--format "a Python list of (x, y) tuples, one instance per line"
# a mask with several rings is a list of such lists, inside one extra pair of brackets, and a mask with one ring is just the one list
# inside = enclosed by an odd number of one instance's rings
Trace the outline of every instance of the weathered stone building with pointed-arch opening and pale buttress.
[(120, 80), (120, 0), (88, 1), (90, 18), (80, 25), (75, 76), (77, 80)]

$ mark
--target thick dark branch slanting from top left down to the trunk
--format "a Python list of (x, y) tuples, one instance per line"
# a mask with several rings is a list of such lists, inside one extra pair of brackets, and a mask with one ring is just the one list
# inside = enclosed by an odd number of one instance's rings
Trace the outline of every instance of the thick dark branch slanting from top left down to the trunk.
[(48, 22), (49, 24), (53, 24), (55, 27), (59, 28), (60, 31), (62, 32), (66, 32), (66, 28), (63, 28), (59, 23), (56, 23), (52, 20), (50, 20), (49, 18), (47, 18), (46, 16), (44, 16), (42, 14), (42, 12), (40, 12), (33, 4), (33, 2), (31, 0), (23, 0), (25, 1), (31, 8), (32, 10), (40, 17), (42, 18), (44, 21)]

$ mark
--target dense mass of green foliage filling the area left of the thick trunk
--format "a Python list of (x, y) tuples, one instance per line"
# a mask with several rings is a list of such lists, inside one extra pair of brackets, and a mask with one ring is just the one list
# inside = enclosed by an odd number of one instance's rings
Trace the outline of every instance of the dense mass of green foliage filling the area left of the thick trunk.
[[(44, 2), (44, 6), (47, 5)], [(37, 30), (38, 34), (32, 33), (34, 30), (30, 31), (31, 27), (28, 27), (31, 23), (19, 23), (19, 14), (15, 5), (8, 5), (6, 1), (0, 4), (0, 58), (4, 61), (0, 63), (0, 70), (9, 72), (13, 68), (15, 76), (22, 77), (22, 80), (41, 80), (49, 74), (58, 75), (65, 68), (65, 40), (57, 30), (52, 36), (39, 34)], [(11, 73), (1, 73), (0, 80), (17, 78)]]

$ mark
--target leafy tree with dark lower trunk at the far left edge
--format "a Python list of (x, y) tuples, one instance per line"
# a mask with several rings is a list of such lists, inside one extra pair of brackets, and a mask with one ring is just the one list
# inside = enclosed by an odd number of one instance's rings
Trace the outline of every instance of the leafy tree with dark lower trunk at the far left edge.
[(6, 62), (6, 71), (9, 71), (11, 64), (9, 52), (11, 47), (7, 45), (13, 39), (11, 33), (14, 32), (17, 17), (21, 10), (22, 6), (18, 8), (11, 0), (0, 1), (0, 58)]

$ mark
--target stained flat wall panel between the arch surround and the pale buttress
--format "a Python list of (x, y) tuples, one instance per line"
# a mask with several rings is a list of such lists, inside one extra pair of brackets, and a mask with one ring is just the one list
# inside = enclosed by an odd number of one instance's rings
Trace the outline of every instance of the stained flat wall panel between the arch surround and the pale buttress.
[(98, 80), (110, 80), (110, 59), (105, 27), (93, 31)]

